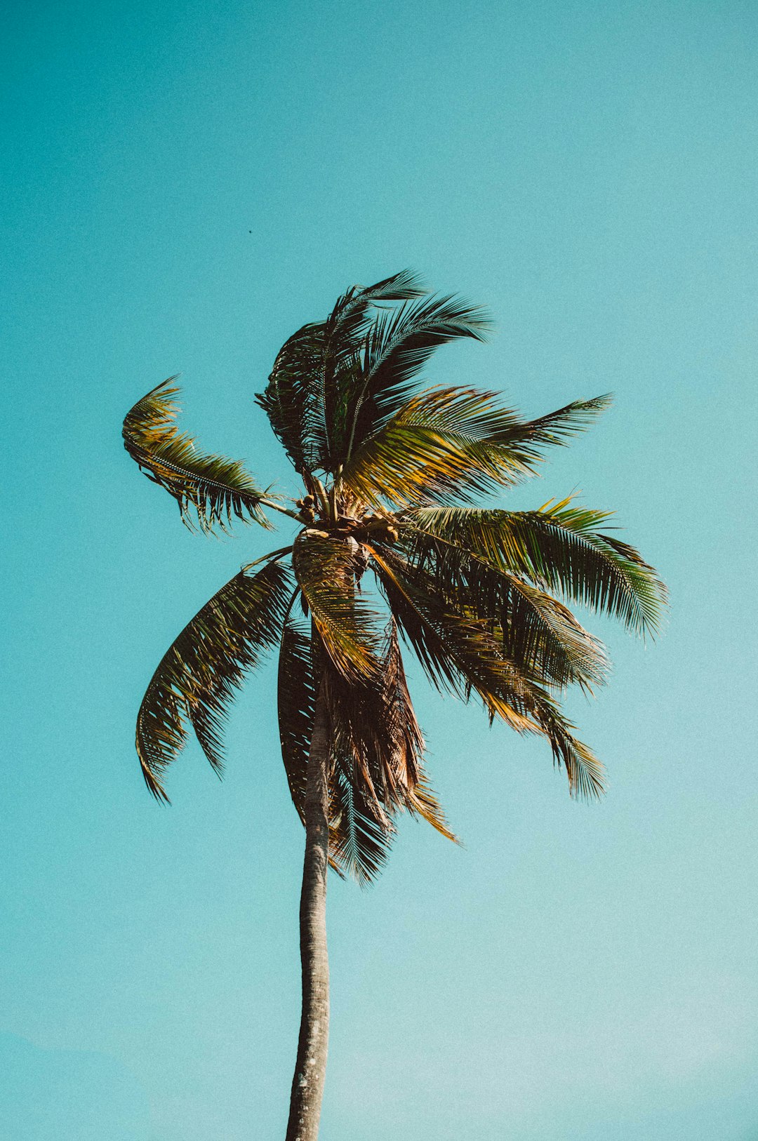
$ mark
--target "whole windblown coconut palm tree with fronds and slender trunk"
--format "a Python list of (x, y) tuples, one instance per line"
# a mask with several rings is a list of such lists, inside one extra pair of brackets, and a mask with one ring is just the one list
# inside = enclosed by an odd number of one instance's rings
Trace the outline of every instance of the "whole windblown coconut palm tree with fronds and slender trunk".
[(578, 602), (637, 633), (656, 629), (664, 589), (608, 513), (571, 499), (533, 511), (478, 505), (534, 472), (607, 397), (526, 420), (495, 393), (425, 388), (434, 350), (483, 340), (483, 310), (432, 297), (410, 273), (354, 286), (325, 321), (282, 347), (257, 399), (301, 480), (287, 500), (178, 431), (167, 380), (123, 426), (126, 448), (203, 532), (297, 524), (288, 545), (242, 569), (161, 659), (137, 717), (152, 794), (194, 731), (217, 774), (243, 675), (279, 653), (284, 771), (305, 826), (300, 897), (303, 1014), (288, 1141), (314, 1141), (329, 1023), (326, 874), (371, 881), (398, 816), (454, 839), (424, 767), (403, 671), (412, 650), (437, 689), (478, 699), (490, 721), (543, 737), (572, 794), (595, 798), (603, 767), (561, 709), (568, 686), (605, 675)]

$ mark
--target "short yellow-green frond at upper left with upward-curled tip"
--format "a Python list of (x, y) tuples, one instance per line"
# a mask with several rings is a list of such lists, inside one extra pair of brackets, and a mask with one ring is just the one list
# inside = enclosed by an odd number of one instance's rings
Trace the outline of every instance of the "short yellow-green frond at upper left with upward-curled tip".
[(226, 531), (233, 518), (255, 519), (269, 527), (261, 510), (266, 492), (259, 489), (244, 467), (223, 455), (203, 455), (191, 436), (179, 432), (170, 377), (143, 396), (123, 421), (123, 446), (145, 475), (164, 487), (179, 504), (184, 523), (192, 527), (191, 508), (204, 532)]

